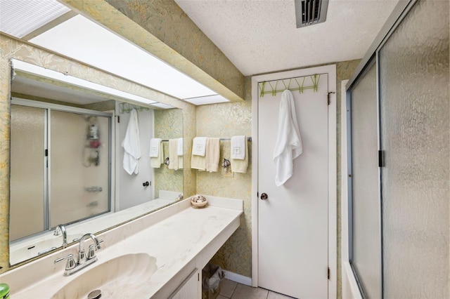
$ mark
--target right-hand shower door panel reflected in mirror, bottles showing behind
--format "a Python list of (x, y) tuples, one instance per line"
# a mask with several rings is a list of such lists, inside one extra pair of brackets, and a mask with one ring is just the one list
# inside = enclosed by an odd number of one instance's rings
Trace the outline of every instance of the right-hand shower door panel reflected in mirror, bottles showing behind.
[(110, 211), (110, 118), (50, 114), (50, 227)]

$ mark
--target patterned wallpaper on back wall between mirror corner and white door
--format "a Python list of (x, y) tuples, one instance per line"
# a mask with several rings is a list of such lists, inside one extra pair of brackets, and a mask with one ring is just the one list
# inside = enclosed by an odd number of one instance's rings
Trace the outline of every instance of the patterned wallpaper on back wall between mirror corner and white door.
[[(231, 138), (252, 134), (251, 78), (245, 79), (245, 101), (197, 107), (197, 135)], [(220, 161), (230, 159), (230, 142), (221, 141)], [(217, 197), (243, 199), (244, 213), (240, 227), (214, 256), (212, 262), (223, 269), (246, 277), (252, 276), (252, 142), (248, 142), (249, 164), (247, 173), (234, 173), (232, 178), (217, 173), (199, 171), (197, 192)], [(233, 166), (231, 166), (233, 167)]]

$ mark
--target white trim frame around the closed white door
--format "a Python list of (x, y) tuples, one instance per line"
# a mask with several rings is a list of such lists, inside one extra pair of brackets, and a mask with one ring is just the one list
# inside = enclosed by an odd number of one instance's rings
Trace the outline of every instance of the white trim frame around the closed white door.
[[(258, 82), (328, 73), (328, 91), (336, 91), (336, 65), (296, 69), (252, 77), (252, 286), (258, 286)], [(328, 106), (328, 298), (336, 298), (338, 285), (338, 211), (336, 94), (330, 94)]]

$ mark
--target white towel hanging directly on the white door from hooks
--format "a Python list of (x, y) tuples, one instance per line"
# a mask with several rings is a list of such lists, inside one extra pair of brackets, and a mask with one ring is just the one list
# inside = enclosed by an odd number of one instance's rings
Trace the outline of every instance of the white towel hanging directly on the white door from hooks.
[(278, 112), (278, 133), (274, 148), (275, 185), (283, 185), (293, 175), (293, 160), (303, 152), (302, 138), (295, 114), (293, 94), (285, 90), (281, 94)]

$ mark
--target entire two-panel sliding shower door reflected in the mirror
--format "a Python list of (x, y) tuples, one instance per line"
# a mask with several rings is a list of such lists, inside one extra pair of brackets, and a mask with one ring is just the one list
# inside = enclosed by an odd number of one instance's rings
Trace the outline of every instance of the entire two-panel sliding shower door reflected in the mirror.
[(110, 211), (110, 119), (104, 112), (13, 100), (11, 241)]

